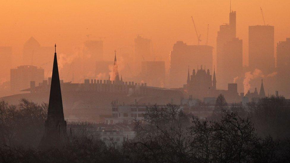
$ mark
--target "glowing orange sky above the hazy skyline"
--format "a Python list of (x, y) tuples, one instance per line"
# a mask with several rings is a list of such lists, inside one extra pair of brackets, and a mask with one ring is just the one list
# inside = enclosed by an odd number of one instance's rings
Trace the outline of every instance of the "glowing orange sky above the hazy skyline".
[[(260, 7), (266, 23), (275, 26), (275, 44), (290, 37), (289, 0), (232, 0), (245, 59), (248, 26), (263, 23)], [(92, 39), (106, 37), (104, 55), (112, 60), (114, 49), (132, 51), (136, 34), (143, 34), (152, 38), (155, 54), (163, 56), (168, 65), (168, 55), (176, 41), (197, 44), (191, 15), (201, 33), (201, 44), (206, 41), (209, 23), (209, 45), (216, 49), (217, 31), (219, 25), (228, 23), (228, 13), (229, 0), (2, 1), (0, 46), (12, 46), (17, 58), (22, 56), (24, 42), (33, 36), (42, 46), (57, 43), (58, 53), (69, 54), (91, 34)]]

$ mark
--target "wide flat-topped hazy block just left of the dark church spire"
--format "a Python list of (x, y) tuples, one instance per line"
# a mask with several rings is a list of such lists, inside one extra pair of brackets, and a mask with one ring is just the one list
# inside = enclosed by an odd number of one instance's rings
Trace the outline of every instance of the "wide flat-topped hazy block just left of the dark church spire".
[(36, 66), (18, 66), (16, 69), (10, 69), (10, 89), (12, 94), (29, 88), (30, 81), (42, 83), (44, 80), (44, 69)]

